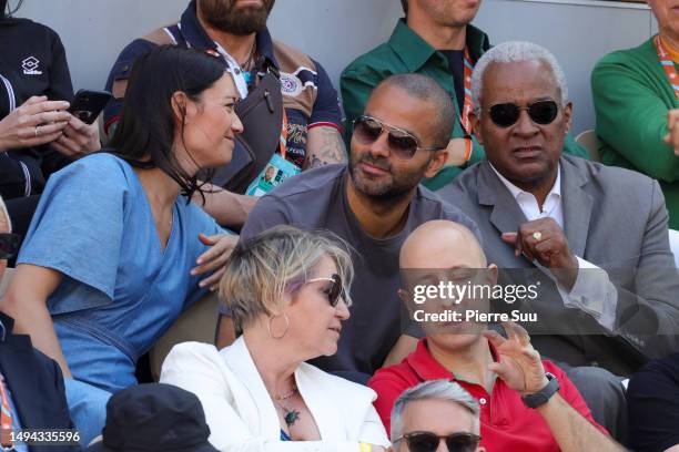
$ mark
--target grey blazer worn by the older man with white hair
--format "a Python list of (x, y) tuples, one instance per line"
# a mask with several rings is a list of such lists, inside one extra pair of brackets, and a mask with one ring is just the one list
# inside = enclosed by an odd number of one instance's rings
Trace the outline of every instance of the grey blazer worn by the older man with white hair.
[[(677, 349), (679, 275), (669, 248), (665, 198), (658, 183), (640, 173), (569, 155), (559, 163), (566, 237), (576, 256), (606, 269), (616, 285), (616, 327), (615, 333), (606, 333), (591, 316), (565, 308), (553, 280), (538, 276), (539, 300), (529, 309), (551, 323), (549, 330), (531, 332), (533, 343), (544, 356), (570, 366), (629, 374)], [(527, 271), (533, 278), (544, 275), (500, 238), (517, 232), (526, 217), (487, 161), (437, 194), (476, 222), (488, 261), (500, 268), (500, 281), (521, 273), (508, 268), (534, 269)]]

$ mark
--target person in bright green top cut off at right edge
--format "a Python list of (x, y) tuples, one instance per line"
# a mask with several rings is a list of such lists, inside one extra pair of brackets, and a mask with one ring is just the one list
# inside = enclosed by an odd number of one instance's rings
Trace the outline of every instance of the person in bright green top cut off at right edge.
[(648, 3), (660, 33), (635, 49), (609, 53), (591, 74), (599, 154), (607, 165), (658, 179), (669, 226), (679, 229), (679, 158), (665, 141), (668, 113), (679, 109), (679, 86), (672, 89), (669, 82), (679, 61), (679, 12), (667, 0)]

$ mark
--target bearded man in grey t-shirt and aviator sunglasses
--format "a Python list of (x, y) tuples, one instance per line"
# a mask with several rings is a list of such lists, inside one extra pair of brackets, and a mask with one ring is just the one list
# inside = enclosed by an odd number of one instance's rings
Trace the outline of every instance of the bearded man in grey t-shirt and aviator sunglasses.
[[(434, 80), (393, 75), (373, 91), (356, 121), (348, 165), (295, 176), (250, 214), (242, 240), (287, 224), (331, 230), (356, 251), (351, 318), (343, 323), (337, 353), (314, 360), (321, 369), (372, 374), (387, 357), (397, 362), (415, 348), (418, 331), (404, 328), (408, 322), (402, 321), (397, 295), (398, 253), (411, 232), (430, 219), (450, 219), (479, 236), (474, 222), (418, 185), (446, 162), (454, 121), (450, 99)], [(217, 346), (233, 337), (233, 323), (222, 318)]]

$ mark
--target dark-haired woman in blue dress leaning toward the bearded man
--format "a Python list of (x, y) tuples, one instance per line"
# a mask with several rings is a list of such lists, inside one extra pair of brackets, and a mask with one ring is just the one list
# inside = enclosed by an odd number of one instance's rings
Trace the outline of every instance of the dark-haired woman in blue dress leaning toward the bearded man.
[(110, 394), (136, 382), (136, 360), (223, 271), (235, 236), (189, 199), (199, 171), (231, 160), (237, 95), (219, 59), (155, 49), (134, 64), (110, 152), (48, 182), (1, 308), (61, 366), (85, 440)]

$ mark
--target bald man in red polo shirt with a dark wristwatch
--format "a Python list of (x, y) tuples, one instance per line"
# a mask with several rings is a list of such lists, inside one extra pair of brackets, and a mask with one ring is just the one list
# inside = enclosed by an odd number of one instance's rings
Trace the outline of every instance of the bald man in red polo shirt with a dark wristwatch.
[[(478, 284), (495, 285), (497, 278), (497, 267), (487, 265), (474, 234), (446, 220), (425, 223), (411, 234), (401, 249), (401, 268), (411, 288), (412, 278), (437, 285), (436, 269), (466, 273)], [(413, 294), (401, 291), (409, 309), (415, 306)], [(487, 311), (488, 301), (465, 299), (456, 309), (462, 312), (472, 305)], [(416, 309), (427, 311), (426, 306), (418, 304)], [(486, 325), (447, 322), (442, 329), (434, 322), (423, 323), (427, 336), (417, 349), (399, 364), (378, 370), (368, 383), (377, 392), (375, 408), (387, 431), (394, 402), (404, 390), (448, 379), (478, 400), (482, 445), (488, 451), (624, 450), (594, 421), (566, 373), (540, 360), (528, 333), (516, 323), (503, 326), (507, 338), (485, 330)]]

